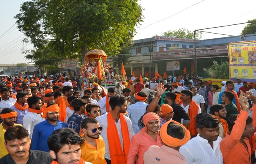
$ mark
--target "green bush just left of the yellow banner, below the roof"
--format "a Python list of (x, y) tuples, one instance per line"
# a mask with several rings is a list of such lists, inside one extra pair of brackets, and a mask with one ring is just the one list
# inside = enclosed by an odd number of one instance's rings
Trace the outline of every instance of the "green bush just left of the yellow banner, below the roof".
[(210, 78), (217, 79), (229, 79), (229, 63), (222, 62), (221, 65), (217, 63), (217, 61), (213, 60), (213, 65), (209, 68), (203, 68), (205, 73), (209, 75)]

